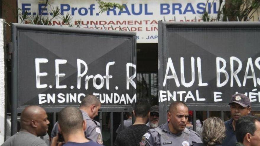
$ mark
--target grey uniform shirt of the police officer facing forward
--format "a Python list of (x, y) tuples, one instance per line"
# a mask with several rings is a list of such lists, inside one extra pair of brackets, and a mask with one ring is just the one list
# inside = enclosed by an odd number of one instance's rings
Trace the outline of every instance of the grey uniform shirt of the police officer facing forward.
[(170, 132), (168, 122), (160, 125), (155, 129), (150, 129), (144, 134), (140, 145), (147, 146), (189, 146), (194, 143), (202, 143), (199, 134), (193, 130), (185, 128), (179, 134), (173, 134)]

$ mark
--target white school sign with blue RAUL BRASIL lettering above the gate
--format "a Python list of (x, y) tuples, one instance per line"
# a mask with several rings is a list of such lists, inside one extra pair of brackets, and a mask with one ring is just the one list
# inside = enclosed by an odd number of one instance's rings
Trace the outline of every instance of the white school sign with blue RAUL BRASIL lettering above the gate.
[[(80, 20), (81, 27), (99, 29), (130, 31), (137, 33), (137, 43), (157, 43), (158, 42), (158, 27), (157, 21), (201, 21), (202, 14), (206, 8), (212, 18), (217, 16), (219, 9), (219, 1), (209, 0), (114, 0), (105, 2), (114, 2), (123, 4), (125, 9), (111, 9), (102, 14), (99, 13), (97, 1), (95, 0), (49, 0), (45, 7), (45, 1), (35, 0), (18, 0), (18, 8), (22, 12), (28, 11), (32, 17), (40, 14), (47, 17), (52, 7), (60, 7), (61, 14), (71, 14), (71, 20), (74, 26), (77, 26), (75, 21)], [(48, 11), (48, 13), (47, 13)], [(50, 15), (50, 14), (49, 14)], [(51, 18), (51, 16), (50, 16)], [(21, 20), (18, 18), (19, 23)], [(30, 23), (30, 20), (25, 21)], [(52, 19), (53, 25), (62, 24), (61, 19)], [(95, 25), (94, 25), (95, 24)], [(68, 26), (64, 24), (64, 26)], [(120, 26), (120, 27), (119, 27)], [(113, 28), (112, 28), (113, 27)], [(127, 28), (128, 27), (128, 28)]]

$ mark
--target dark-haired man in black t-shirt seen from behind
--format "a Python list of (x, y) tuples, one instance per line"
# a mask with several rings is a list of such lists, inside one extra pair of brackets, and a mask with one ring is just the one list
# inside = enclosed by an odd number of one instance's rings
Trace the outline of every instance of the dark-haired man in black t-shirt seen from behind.
[(147, 100), (140, 99), (135, 103), (133, 113), (135, 116), (134, 124), (117, 135), (114, 146), (142, 145), (140, 144), (142, 136), (147, 130), (151, 129), (151, 127), (145, 125), (150, 114), (150, 103)]

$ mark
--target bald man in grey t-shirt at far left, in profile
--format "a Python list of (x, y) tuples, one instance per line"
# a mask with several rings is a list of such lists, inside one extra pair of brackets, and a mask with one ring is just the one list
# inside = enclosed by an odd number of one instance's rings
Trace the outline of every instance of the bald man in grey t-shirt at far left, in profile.
[(21, 130), (1, 146), (47, 146), (38, 136), (44, 136), (50, 122), (40, 106), (28, 106), (21, 113)]

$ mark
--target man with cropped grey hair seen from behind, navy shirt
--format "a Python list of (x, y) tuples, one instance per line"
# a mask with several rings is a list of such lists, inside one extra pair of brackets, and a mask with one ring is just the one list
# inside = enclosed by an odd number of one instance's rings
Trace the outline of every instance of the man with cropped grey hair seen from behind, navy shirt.
[(62, 109), (58, 115), (58, 121), (58, 131), (65, 142), (63, 146), (100, 146), (85, 137), (87, 122), (83, 119), (82, 112), (76, 107), (69, 106)]

